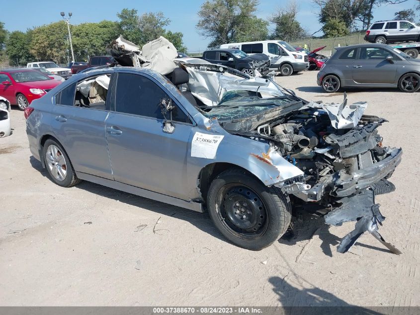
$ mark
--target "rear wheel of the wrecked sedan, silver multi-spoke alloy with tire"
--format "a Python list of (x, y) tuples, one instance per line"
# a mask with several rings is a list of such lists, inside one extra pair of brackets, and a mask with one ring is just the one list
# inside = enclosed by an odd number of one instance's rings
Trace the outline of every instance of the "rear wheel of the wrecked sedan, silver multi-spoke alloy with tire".
[(48, 139), (44, 143), (43, 157), (50, 179), (61, 187), (72, 187), (80, 183), (69, 156), (61, 144)]

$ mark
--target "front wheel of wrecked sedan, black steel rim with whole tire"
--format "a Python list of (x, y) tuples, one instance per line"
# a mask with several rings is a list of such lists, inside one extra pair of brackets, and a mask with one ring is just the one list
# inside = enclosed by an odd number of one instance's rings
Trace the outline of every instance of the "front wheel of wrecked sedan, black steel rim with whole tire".
[(279, 239), (291, 219), (289, 198), (241, 169), (229, 169), (213, 180), (207, 206), (218, 230), (232, 243), (250, 250)]

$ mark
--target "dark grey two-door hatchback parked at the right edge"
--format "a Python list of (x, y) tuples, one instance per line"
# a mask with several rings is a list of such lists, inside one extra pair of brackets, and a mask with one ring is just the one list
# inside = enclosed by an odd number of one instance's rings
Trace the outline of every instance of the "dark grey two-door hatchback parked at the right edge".
[(420, 89), (420, 60), (385, 44), (337, 47), (321, 67), (317, 83), (327, 93), (350, 87), (416, 92)]

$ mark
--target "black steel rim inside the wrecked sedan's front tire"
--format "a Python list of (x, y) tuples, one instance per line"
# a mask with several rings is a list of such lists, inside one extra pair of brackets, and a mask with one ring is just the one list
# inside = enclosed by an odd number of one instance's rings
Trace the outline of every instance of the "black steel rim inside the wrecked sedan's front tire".
[(242, 184), (225, 185), (217, 200), (219, 220), (234, 235), (255, 239), (267, 228), (267, 211), (261, 198)]

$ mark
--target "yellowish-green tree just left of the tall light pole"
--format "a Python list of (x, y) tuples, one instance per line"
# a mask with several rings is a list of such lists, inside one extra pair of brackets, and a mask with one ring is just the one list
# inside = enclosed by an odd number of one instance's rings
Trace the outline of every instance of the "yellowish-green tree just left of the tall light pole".
[(38, 60), (65, 63), (70, 49), (67, 37), (67, 25), (64, 21), (36, 27), (32, 31), (30, 52)]

